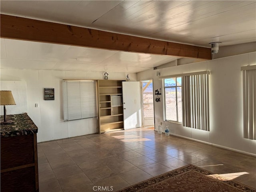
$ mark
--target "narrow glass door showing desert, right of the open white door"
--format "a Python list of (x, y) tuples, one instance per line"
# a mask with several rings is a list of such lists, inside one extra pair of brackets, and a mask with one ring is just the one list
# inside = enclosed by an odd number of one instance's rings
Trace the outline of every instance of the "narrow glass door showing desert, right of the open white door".
[(141, 81), (142, 92), (142, 125), (154, 126), (153, 80)]

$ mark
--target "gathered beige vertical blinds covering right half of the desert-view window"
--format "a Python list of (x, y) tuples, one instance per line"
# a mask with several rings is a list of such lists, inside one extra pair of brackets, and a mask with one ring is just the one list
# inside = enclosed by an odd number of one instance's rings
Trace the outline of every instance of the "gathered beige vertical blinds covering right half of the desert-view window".
[(182, 84), (182, 125), (210, 131), (208, 72), (183, 76)]

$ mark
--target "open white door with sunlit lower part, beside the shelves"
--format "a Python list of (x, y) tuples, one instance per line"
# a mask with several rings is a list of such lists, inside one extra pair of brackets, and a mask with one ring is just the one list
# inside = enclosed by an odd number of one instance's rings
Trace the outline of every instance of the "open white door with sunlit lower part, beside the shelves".
[(122, 82), (124, 129), (141, 127), (140, 82)]

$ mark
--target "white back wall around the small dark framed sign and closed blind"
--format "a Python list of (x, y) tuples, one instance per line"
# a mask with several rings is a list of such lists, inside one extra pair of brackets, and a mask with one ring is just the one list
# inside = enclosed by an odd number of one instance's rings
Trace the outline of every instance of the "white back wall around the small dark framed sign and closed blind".
[[(62, 79), (102, 79), (102, 72), (60, 71), (60, 70), (0, 70), (1, 81), (26, 81), (28, 115), (38, 126), (38, 142), (96, 133), (97, 118), (66, 121), (62, 111)], [(124, 73), (108, 72), (109, 80), (126, 80)], [(129, 73), (136, 81), (137, 74)], [(55, 100), (44, 100), (44, 88), (54, 88)], [(35, 104), (39, 107), (36, 108)]]

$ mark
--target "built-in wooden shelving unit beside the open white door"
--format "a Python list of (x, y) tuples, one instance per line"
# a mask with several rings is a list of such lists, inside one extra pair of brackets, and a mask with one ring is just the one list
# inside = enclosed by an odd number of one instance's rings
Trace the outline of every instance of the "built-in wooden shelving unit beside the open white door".
[(98, 80), (100, 133), (124, 129), (122, 81)]

